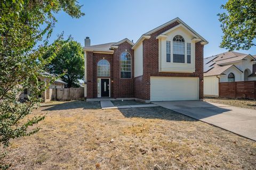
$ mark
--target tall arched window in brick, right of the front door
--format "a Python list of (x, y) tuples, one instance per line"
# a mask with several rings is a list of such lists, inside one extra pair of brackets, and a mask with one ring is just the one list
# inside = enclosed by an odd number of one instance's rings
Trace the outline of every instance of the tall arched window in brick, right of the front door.
[(121, 78), (132, 78), (132, 57), (128, 52), (123, 52), (120, 56)]

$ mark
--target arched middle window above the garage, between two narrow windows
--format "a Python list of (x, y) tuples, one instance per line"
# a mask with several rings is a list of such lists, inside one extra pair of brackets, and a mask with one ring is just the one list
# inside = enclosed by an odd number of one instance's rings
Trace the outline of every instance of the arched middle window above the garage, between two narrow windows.
[(173, 38), (173, 62), (185, 63), (185, 40), (180, 35)]

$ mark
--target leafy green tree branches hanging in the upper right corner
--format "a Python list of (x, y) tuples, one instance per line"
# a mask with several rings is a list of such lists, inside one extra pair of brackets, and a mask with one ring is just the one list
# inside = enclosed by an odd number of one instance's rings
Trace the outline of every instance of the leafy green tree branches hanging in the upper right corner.
[(255, 46), (256, 1), (229, 0), (221, 8), (227, 11), (218, 14), (224, 33), (220, 47), (229, 50), (248, 50)]

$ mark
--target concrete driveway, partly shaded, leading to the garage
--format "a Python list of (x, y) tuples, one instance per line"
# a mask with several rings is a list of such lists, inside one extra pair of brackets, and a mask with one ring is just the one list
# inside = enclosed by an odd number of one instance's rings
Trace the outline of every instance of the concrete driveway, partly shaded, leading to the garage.
[(156, 105), (256, 141), (256, 110), (204, 101), (157, 101)]

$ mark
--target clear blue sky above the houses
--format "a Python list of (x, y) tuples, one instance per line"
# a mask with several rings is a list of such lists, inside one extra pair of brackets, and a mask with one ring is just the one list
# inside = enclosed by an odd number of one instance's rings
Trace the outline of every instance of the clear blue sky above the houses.
[[(176, 17), (186, 22), (203, 36), (209, 44), (204, 48), (204, 57), (226, 52), (220, 48), (222, 31), (218, 13), (220, 5), (226, 1), (167, 1), (167, 0), (122, 0), (122, 1), (79, 1), (84, 5), (85, 16), (73, 19), (64, 12), (58, 13), (50, 41), (64, 31), (84, 45), (84, 38), (90, 37), (91, 45), (116, 42), (129, 38), (134, 42), (140, 36)], [(256, 47), (239, 51), (256, 55)]]

